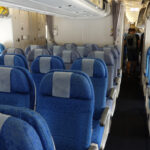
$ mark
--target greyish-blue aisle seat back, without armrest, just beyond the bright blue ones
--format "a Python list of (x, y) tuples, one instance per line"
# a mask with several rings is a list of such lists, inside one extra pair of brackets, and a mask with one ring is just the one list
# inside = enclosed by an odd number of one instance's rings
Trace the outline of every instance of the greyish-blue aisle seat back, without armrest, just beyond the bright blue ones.
[(108, 89), (107, 92), (109, 94), (111, 88), (114, 86), (114, 70), (115, 70), (115, 62), (111, 53), (106, 51), (94, 51), (88, 55), (88, 58), (98, 58), (102, 59), (107, 66), (108, 70)]

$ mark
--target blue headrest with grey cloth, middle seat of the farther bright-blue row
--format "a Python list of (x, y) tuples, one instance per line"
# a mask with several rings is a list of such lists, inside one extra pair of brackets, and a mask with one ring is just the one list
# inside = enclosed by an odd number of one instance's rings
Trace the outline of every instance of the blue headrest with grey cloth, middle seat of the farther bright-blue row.
[(32, 73), (48, 73), (52, 69), (64, 69), (64, 64), (56, 56), (38, 56), (32, 63)]

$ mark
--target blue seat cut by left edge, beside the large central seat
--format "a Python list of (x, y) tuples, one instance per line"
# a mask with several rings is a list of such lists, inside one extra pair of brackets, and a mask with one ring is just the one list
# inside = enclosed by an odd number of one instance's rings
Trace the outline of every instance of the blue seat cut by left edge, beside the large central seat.
[(0, 66), (0, 105), (34, 109), (35, 87), (28, 70)]

